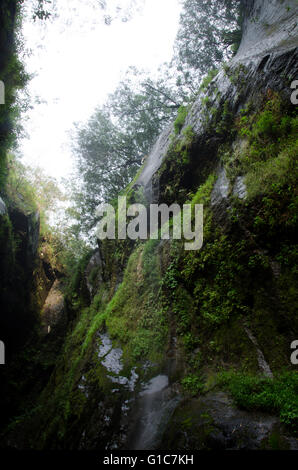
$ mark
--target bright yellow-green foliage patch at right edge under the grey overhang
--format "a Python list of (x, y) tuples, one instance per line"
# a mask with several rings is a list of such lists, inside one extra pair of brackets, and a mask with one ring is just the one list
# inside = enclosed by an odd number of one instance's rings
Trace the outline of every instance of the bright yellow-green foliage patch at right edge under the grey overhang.
[(270, 90), (263, 109), (238, 119), (237, 132), (246, 143), (228, 158), (226, 168), (232, 178), (246, 174), (249, 198), (295, 185), (297, 126), (295, 112), (285, 109), (281, 97)]

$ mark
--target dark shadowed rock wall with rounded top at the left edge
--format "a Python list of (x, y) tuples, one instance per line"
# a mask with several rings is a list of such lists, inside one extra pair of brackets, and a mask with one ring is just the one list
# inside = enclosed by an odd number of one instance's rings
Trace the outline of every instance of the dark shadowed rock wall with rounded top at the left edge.
[(37, 268), (39, 218), (20, 211), (0, 217), (0, 310), (2, 340), (8, 352), (18, 350), (38, 317), (34, 268)]

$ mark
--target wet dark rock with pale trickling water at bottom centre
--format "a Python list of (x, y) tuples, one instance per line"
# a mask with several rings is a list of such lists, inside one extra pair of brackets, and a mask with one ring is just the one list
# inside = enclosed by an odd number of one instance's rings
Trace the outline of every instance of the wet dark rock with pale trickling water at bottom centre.
[(98, 333), (97, 338), (96, 357), (110, 382), (110, 393), (94, 388), (82, 375), (78, 390), (87, 400), (87, 414), (91, 410), (93, 414), (89, 419), (84, 415), (88, 428), (83, 429), (79, 448), (157, 449), (181, 401), (179, 389), (171, 381), (177, 370), (175, 361), (169, 358), (157, 375), (156, 364), (148, 361), (128, 370), (122, 349), (113, 346), (109, 334)]

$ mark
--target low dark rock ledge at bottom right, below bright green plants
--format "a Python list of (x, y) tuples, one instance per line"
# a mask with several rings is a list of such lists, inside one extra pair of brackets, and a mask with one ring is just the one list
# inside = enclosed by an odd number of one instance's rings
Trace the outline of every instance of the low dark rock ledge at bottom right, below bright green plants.
[(164, 433), (161, 449), (253, 450), (297, 448), (278, 418), (233, 406), (223, 392), (212, 392), (178, 405)]

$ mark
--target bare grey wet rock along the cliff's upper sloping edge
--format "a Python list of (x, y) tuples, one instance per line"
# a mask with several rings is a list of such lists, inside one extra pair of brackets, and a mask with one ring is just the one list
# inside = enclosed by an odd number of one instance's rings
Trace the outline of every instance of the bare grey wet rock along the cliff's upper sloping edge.
[[(237, 55), (228, 67), (219, 70), (207, 90), (201, 90), (193, 103), (181, 130), (191, 127), (195, 134), (195, 156), (193, 165), (201, 168), (212, 160), (225, 136), (210, 138), (210, 126), (216, 126), (212, 109), (223, 109), (228, 103), (229, 112), (238, 114), (249, 100), (257, 100), (260, 93), (276, 90), (290, 99), (291, 88), (287, 77), (294, 79), (298, 73), (298, 6), (289, 2), (265, 2), (255, 0), (246, 4), (246, 20), (243, 38)], [(208, 107), (204, 100), (208, 99)], [(214, 132), (213, 132), (214, 133)], [(163, 202), (164, 183), (159, 169), (167, 160), (174, 136), (173, 125), (161, 134), (148, 156), (144, 169), (137, 180), (143, 187), (148, 203)], [(165, 182), (167, 179), (164, 179)], [(238, 178), (234, 194), (246, 197), (244, 177)]]

